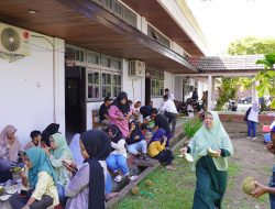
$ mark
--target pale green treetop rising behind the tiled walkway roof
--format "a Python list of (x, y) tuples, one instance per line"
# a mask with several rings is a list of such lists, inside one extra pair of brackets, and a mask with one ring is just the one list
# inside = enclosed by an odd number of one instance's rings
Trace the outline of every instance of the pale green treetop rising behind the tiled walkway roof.
[(275, 38), (244, 37), (232, 42), (228, 47), (230, 55), (268, 54), (275, 52)]

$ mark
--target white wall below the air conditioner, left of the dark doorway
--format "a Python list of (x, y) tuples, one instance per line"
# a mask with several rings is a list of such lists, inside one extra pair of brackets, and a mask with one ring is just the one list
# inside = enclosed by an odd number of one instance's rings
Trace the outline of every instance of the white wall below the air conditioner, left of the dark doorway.
[[(36, 33), (31, 34), (42, 36)], [(0, 59), (0, 130), (7, 124), (14, 125), (22, 144), (30, 140), (31, 131), (43, 131), (52, 122), (59, 123), (59, 131), (65, 132), (64, 41), (44, 37), (56, 44), (55, 74), (53, 45), (43, 37), (31, 36), (30, 56), (13, 63)], [(58, 107), (56, 121), (54, 121), (54, 80), (55, 103)]]

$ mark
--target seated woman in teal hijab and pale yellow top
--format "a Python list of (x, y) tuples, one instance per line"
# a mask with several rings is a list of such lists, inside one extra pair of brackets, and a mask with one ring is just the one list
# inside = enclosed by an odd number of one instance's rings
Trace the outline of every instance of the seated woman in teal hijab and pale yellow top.
[(31, 188), (32, 194), (26, 197), (13, 195), (10, 198), (11, 207), (13, 209), (46, 209), (57, 206), (59, 201), (56, 177), (45, 152), (40, 147), (29, 148), (25, 151), (23, 162), (29, 170), (21, 173), (22, 185)]

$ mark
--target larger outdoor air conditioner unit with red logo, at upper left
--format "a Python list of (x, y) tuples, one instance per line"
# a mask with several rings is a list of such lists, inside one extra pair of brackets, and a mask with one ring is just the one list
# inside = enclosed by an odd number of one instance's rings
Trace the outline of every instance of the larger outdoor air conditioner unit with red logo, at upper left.
[(29, 56), (30, 32), (0, 23), (0, 53)]

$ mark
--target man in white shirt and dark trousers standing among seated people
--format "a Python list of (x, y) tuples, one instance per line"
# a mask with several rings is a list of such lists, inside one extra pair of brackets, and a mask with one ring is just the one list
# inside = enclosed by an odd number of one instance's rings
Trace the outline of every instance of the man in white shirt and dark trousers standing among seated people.
[(168, 119), (168, 123), (172, 123), (172, 134), (175, 134), (176, 123), (177, 123), (177, 108), (172, 99), (167, 95), (163, 96), (163, 106), (161, 111)]

